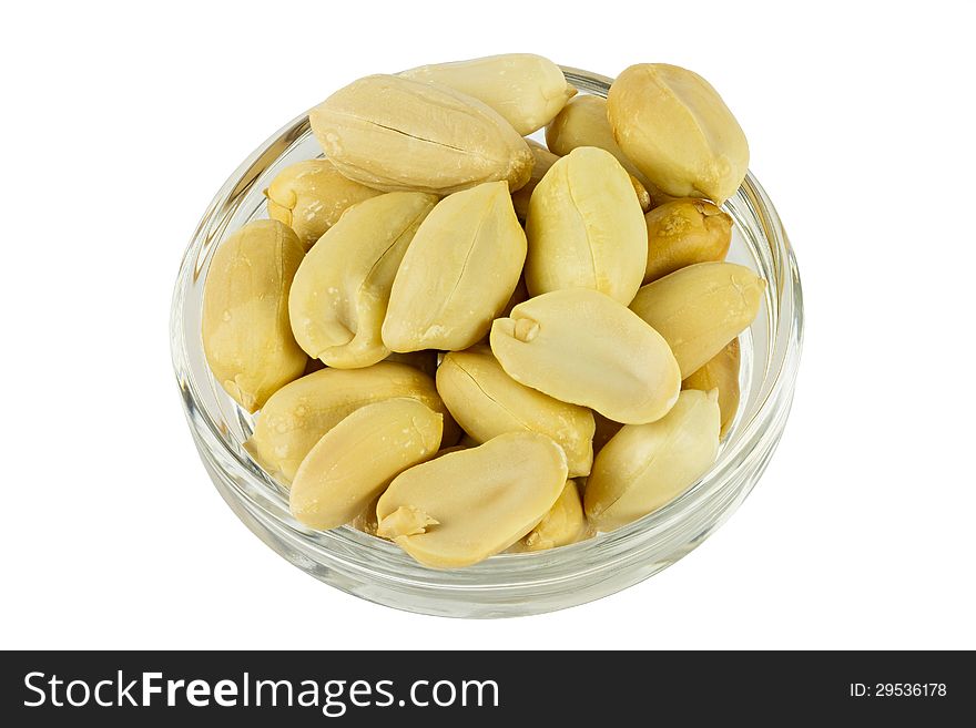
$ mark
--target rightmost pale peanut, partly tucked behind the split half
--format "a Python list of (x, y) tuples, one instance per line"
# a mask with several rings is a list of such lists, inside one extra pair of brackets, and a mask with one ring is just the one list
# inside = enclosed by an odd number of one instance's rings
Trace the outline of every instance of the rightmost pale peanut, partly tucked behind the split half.
[(648, 284), (630, 308), (668, 341), (681, 376), (749, 328), (766, 283), (733, 263), (699, 263)]

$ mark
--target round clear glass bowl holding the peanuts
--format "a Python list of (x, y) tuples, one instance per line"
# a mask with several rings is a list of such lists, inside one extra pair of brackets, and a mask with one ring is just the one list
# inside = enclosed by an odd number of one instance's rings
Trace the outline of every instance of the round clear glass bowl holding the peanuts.
[[(580, 93), (606, 96), (611, 79), (563, 68)], [(317, 532), (288, 512), (287, 492), (244, 450), (253, 417), (214, 380), (201, 341), (203, 283), (216, 247), (265, 217), (263, 191), (283, 167), (321, 156), (307, 115), (262, 144), (207, 207), (186, 249), (171, 316), (173, 366), (194, 442), (211, 480), (248, 529), (298, 568), (336, 588), (399, 609), (453, 617), (538, 614), (607, 596), (698, 546), (755, 485), (783, 432), (800, 362), (803, 307), (793, 250), (752, 174), (725, 205), (735, 221), (729, 259), (767, 285), (741, 336), (741, 403), (711, 470), (659, 511), (608, 534), (551, 551), (500, 554), (462, 570), (421, 566), (392, 543), (349, 526)]]

